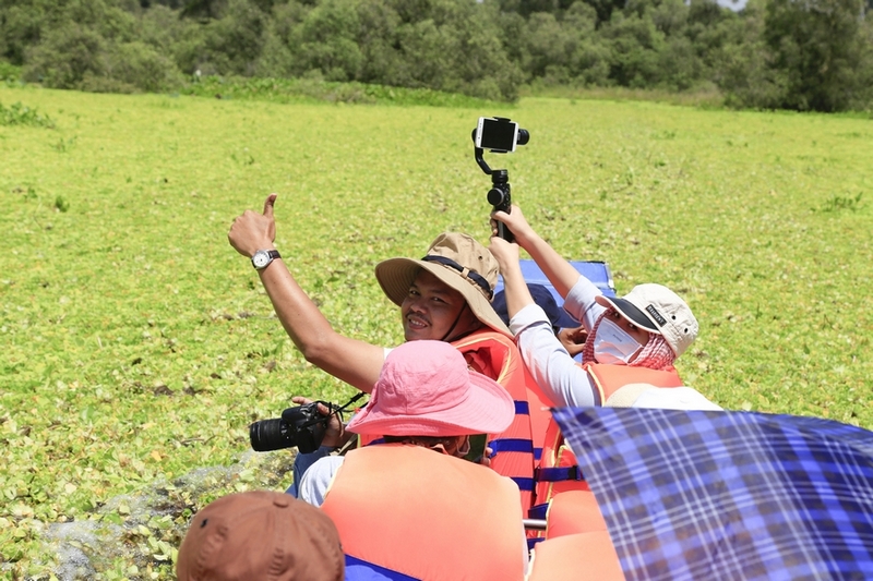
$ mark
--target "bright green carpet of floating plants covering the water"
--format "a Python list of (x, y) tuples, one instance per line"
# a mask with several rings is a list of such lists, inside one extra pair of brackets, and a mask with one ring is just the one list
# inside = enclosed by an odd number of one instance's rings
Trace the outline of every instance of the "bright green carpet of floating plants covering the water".
[(373, 266), (443, 230), (487, 241), (490, 179), (470, 142), (483, 114), (530, 131), (487, 159), (562, 254), (607, 261), (619, 293), (651, 281), (687, 300), (689, 385), (730, 409), (873, 428), (873, 121), (0, 88), (16, 102), (55, 126), (0, 125), (4, 578), (50, 578), (43, 523), (234, 462), (248, 424), (292, 395), (351, 395), (294, 349), (230, 222), (278, 192), (277, 244), (303, 288), (346, 334), (395, 344)]

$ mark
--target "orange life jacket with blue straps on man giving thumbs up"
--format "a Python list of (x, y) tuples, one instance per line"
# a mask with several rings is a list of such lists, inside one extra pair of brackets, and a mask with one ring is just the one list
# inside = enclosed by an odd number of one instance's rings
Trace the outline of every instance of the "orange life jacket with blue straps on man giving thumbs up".
[[(452, 341), (452, 344), (464, 354), (467, 364), (502, 385), (515, 402), (515, 419), (502, 434), (488, 434), (488, 447), (494, 451), (491, 469), (502, 476), (511, 477), (518, 485), (522, 510), (527, 511), (534, 500), (534, 467), (536, 464), (534, 435), (530, 420), (531, 403), (529, 394), (541, 394), (536, 387), (530, 372), (527, 371), (518, 348), (513, 340), (503, 334), (480, 329)], [(546, 398), (542, 395), (542, 398)], [(548, 402), (548, 398), (542, 401)], [(551, 412), (543, 410), (540, 401), (533, 403), (537, 416), (537, 425), (541, 434), (539, 447), (545, 439), (545, 428), (551, 419)], [(547, 414), (547, 415), (545, 415)], [(376, 436), (359, 436), (359, 445), (368, 446), (380, 443)]]

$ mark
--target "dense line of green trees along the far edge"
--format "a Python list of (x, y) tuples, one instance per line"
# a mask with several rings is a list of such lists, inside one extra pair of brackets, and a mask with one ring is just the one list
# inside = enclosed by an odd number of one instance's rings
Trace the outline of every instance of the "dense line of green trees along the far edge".
[(0, 0), (0, 66), (93, 92), (201, 75), (427, 87), (716, 89), (736, 107), (873, 106), (873, 0)]

